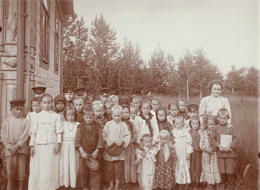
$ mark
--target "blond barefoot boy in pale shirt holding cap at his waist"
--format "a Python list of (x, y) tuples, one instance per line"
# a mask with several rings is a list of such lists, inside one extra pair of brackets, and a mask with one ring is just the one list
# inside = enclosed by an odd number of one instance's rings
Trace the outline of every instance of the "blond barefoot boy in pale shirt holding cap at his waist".
[[(130, 142), (127, 124), (121, 121), (122, 113), (123, 108), (114, 105), (112, 107), (113, 120), (107, 122), (103, 129), (103, 139), (106, 143), (104, 149), (105, 180), (109, 182), (107, 190), (118, 189), (125, 160), (123, 148), (126, 148)], [(116, 180), (115, 187), (114, 179)]]

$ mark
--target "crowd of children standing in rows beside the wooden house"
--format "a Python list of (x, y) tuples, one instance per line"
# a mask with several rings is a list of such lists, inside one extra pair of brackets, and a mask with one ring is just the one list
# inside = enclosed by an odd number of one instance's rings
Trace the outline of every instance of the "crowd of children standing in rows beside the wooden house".
[[(167, 116), (158, 98), (134, 95), (129, 105), (118, 105), (109, 89), (100, 92), (94, 102), (84, 97), (84, 88), (66, 88), (54, 101), (42, 93), (31, 100), (26, 119), (25, 100), (10, 102), (12, 114), (1, 128), (7, 189), (14, 189), (16, 180), (23, 189), (28, 152), (28, 189), (99, 189), (103, 178), (108, 190), (118, 190), (121, 180), (138, 182), (143, 190), (197, 188), (202, 183), (213, 189), (214, 184), (233, 182), (239, 137), (234, 126), (227, 126), (226, 109), (218, 117), (199, 117), (198, 105), (179, 99), (168, 104)], [(220, 135), (232, 135), (231, 143), (221, 146)]]

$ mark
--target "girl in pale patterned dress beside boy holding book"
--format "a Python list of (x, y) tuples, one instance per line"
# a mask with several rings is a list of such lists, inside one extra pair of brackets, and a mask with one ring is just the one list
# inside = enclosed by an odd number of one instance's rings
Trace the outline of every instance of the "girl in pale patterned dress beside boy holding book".
[(218, 124), (214, 116), (208, 116), (206, 119), (206, 128), (200, 134), (200, 148), (202, 152), (202, 174), (200, 182), (207, 182), (207, 189), (212, 190), (215, 183), (220, 183), (220, 174), (218, 169), (217, 152), (210, 145), (209, 137), (213, 126)]

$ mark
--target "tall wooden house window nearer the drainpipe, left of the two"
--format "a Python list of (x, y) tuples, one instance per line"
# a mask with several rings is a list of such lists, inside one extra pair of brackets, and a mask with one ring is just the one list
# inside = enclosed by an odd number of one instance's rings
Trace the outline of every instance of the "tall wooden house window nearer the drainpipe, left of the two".
[(40, 65), (49, 69), (50, 1), (42, 0), (41, 9)]

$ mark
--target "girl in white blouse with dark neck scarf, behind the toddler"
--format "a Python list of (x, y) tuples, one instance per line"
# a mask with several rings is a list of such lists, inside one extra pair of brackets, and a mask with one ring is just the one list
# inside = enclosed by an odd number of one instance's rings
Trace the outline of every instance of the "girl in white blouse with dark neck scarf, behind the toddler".
[(151, 111), (150, 100), (142, 100), (140, 105), (140, 114), (135, 117), (135, 127), (138, 133), (138, 147), (140, 150), (143, 149), (141, 139), (144, 134), (150, 134), (153, 137), (152, 144), (150, 146), (153, 149), (156, 142), (158, 142), (159, 128), (156, 120), (156, 116), (153, 116)]

